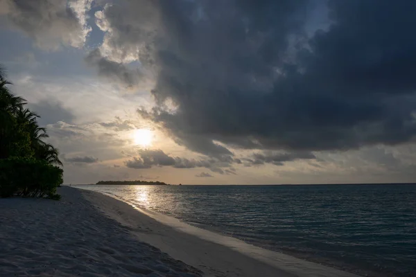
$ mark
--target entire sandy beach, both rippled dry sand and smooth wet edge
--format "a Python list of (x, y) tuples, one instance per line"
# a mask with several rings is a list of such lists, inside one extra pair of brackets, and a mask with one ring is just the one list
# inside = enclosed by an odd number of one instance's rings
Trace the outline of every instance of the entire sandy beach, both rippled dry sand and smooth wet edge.
[(0, 276), (340, 276), (87, 190), (0, 199)]

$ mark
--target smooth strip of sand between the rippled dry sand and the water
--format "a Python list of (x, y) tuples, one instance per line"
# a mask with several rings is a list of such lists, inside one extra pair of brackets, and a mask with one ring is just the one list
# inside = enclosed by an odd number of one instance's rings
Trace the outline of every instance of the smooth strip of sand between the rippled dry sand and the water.
[(200, 229), (174, 217), (137, 208), (114, 195), (91, 190), (83, 193), (139, 240), (201, 269), (205, 276), (358, 276)]

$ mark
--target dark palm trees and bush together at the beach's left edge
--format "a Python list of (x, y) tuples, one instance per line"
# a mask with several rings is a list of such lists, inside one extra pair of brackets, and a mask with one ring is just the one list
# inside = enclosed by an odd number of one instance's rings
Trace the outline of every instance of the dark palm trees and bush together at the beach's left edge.
[(37, 114), (26, 109), (26, 100), (10, 92), (10, 82), (0, 69), (0, 197), (60, 199), (62, 184), (59, 152), (43, 139), (46, 129)]

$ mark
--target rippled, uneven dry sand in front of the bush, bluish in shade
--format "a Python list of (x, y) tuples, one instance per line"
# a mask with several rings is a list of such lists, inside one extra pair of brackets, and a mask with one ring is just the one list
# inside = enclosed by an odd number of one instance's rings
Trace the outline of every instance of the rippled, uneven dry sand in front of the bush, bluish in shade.
[(75, 188), (61, 201), (0, 199), (0, 276), (200, 276), (139, 242)]

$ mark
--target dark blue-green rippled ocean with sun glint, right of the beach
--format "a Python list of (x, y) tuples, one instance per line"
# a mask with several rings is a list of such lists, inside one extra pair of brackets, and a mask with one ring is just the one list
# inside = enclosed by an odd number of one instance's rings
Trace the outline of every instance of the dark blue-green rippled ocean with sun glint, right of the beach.
[(415, 185), (78, 187), (362, 276), (416, 276)]

